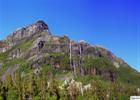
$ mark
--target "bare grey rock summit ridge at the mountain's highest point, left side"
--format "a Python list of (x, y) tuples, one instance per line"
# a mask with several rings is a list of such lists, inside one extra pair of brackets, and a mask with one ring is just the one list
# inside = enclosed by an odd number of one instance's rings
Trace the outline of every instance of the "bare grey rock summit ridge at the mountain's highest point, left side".
[(29, 26), (18, 28), (16, 31), (11, 33), (7, 38), (6, 42), (9, 43), (9, 46), (15, 46), (22, 39), (32, 38), (36, 34), (41, 34), (41, 32), (46, 32), (50, 34), (48, 25), (43, 20), (38, 20), (36, 23)]

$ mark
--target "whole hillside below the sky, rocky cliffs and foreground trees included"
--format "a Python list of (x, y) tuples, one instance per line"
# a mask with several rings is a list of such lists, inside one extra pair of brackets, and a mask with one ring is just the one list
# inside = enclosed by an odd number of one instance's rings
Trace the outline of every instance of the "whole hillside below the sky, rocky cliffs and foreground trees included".
[(140, 73), (124, 60), (102, 46), (54, 36), (42, 20), (0, 41), (0, 80), (1, 98), (8, 100), (127, 100), (140, 95)]

